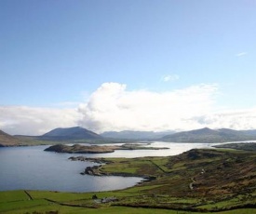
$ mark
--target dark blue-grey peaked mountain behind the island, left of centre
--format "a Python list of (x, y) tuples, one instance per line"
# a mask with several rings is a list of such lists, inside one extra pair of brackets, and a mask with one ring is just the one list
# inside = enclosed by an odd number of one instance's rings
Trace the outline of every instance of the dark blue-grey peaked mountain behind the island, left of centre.
[(84, 127), (58, 127), (38, 137), (40, 140), (93, 140), (102, 139)]

